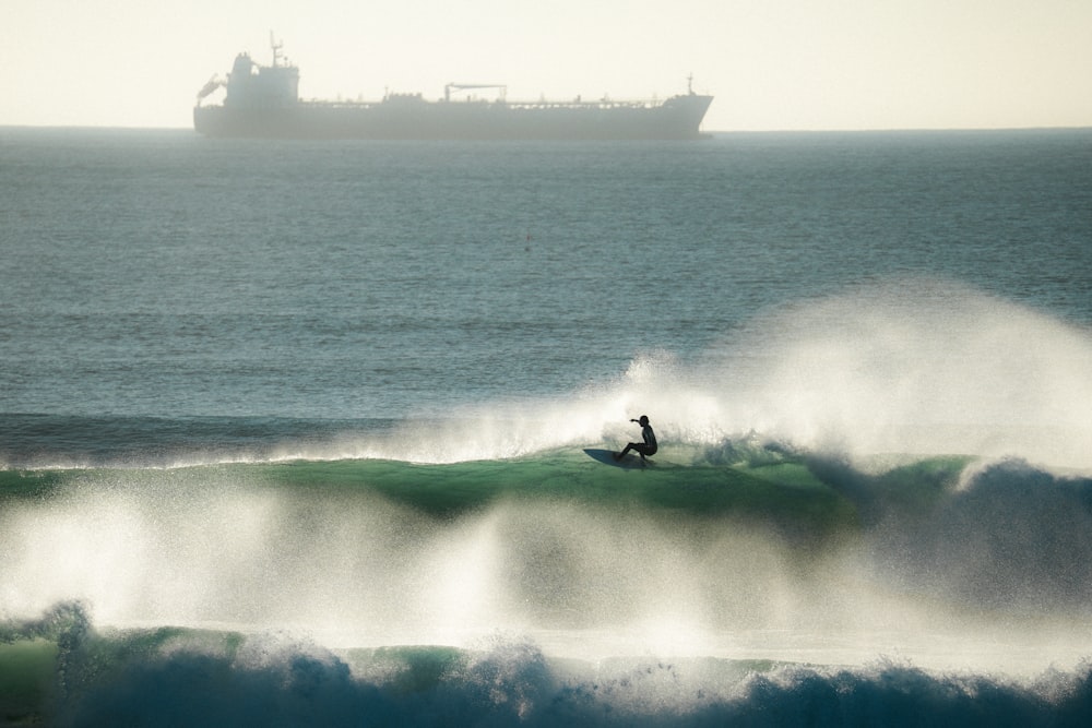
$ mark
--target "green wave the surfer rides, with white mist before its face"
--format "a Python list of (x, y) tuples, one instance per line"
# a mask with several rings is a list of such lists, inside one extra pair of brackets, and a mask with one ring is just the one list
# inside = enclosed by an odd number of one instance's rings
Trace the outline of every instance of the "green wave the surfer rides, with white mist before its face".
[(648, 636), (665, 614), (693, 634), (1088, 617), (1092, 479), (745, 444), (654, 460), (5, 472), (0, 609), (79, 595), (109, 623), (454, 643), (497, 625)]

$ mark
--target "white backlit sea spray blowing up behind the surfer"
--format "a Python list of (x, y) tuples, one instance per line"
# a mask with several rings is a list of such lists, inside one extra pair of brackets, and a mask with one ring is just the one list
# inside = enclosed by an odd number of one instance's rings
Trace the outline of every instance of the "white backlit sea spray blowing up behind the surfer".
[(569, 395), (455, 408), (407, 421), (356, 456), (448, 463), (519, 457), (634, 437), (649, 414), (666, 443), (749, 433), (857, 458), (1025, 457), (1092, 472), (1092, 332), (954, 283), (863, 285), (771, 309), (681, 358), (638, 355)]

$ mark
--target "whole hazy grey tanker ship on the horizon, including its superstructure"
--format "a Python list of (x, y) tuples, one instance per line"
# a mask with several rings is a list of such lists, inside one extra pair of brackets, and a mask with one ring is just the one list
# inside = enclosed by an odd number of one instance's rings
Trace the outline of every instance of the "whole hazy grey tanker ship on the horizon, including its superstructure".
[[(388, 94), (378, 102), (299, 98), (299, 69), (272, 44), (272, 65), (239, 53), (226, 79), (198, 93), (193, 128), (212, 138), (377, 140), (693, 140), (712, 96), (664, 100), (510, 102), (503, 85), (451, 83), (442, 99)], [(223, 99), (209, 97), (223, 88)], [(494, 98), (462, 96), (492, 89)]]

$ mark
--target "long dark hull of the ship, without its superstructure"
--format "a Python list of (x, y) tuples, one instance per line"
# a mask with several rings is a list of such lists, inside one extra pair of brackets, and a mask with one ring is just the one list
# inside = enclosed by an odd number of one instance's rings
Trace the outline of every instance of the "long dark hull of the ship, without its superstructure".
[(693, 140), (711, 96), (656, 105), (384, 100), (297, 102), (256, 108), (198, 106), (193, 126), (212, 138), (376, 140)]

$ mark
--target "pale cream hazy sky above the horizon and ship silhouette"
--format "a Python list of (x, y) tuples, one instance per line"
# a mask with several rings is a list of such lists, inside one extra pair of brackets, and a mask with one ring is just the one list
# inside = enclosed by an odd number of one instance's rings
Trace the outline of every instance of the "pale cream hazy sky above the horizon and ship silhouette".
[(300, 94), (715, 96), (703, 129), (1092, 127), (1092, 0), (0, 0), (0, 126), (189, 127), (235, 55)]

